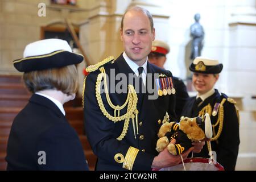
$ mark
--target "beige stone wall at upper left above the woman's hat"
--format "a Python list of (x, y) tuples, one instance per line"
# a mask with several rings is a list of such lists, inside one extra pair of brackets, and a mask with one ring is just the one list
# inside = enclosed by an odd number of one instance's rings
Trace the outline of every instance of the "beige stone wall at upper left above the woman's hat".
[[(80, 7), (87, 8), (88, 1), (78, 1)], [(89, 1), (91, 2), (91, 1)], [(46, 16), (38, 16), (38, 4), (46, 4)], [(24, 47), (40, 40), (40, 27), (53, 22), (63, 22), (64, 16), (71, 22), (86, 18), (85, 12), (69, 13), (48, 6), (49, 0), (1, 0), (0, 1), (0, 74), (18, 73), (12, 61), (23, 56)], [(62, 24), (63, 26), (63, 24)]]

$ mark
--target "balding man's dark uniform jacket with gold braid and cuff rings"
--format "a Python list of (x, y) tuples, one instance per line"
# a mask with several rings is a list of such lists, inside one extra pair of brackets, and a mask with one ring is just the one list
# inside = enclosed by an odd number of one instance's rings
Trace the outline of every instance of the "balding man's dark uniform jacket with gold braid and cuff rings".
[[(86, 69), (90, 73), (84, 85), (85, 131), (94, 154), (98, 156), (96, 170), (150, 170), (154, 157), (158, 155), (155, 145), (161, 124), (159, 119), (168, 111), (170, 121), (176, 120), (175, 94), (148, 100), (148, 93), (136, 93), (131, 84), (124, 89), (129, 90), (128, 94), (100, 93), (102, 77), (104, 81), (106, 75), (112, 79), (110, 69), (114, 69), (115, 75), (125, 73), (127, 78), (129, 73), (134, 74), (122, 55), (115, 61), (106, 59), (103, 64)], [(98, 67), (101, 68), (96, 70)], [(171, 72), (150, 63), (147, 64), (147, 73), (172, 77)], [(117, 82), (112, 84), (116, 86)], [(152, 79), (153, 85), (154, 82)]]

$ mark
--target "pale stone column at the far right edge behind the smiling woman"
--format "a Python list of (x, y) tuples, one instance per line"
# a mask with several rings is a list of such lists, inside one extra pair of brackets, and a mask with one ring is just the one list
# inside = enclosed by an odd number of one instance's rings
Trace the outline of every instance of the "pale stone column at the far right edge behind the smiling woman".
[[(237, 170), (252, 170), (256, 165), (256, 9), (245, 1), (234, 7), (229, 22), (229, 59), (226, 60), (226, 86), (229, 93), (238, 94), (240, 108), (240, 150)], [(252, 1), (251, 1), (252, 3)]]

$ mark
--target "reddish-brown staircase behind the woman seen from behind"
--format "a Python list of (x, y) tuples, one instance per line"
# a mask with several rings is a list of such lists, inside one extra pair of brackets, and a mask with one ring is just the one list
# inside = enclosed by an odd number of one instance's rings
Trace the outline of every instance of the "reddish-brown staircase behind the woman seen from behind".
[[(23, 86), (20, 76), (0, 75), (0, 170), (5, 170), (7, 166), (5, 162), (6, 148), (13, 119), (27, 104), (30, 96), (31, 94)], [(89, 169), (94, 170), (97, 158), (84, 134), (81, 102), (81, 98), (69, 101), (64, 104), (64, 109), (69, 123), (79, 135)]]

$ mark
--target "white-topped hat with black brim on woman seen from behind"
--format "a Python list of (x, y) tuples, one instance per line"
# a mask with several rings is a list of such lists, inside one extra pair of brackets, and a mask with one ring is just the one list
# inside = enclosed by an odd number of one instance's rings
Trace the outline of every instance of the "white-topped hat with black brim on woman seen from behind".
[(14, 67), (19, 72), (40, 71), (79, 64), (84, 56), (73, 53), (65, 40), (44, 39), (26, 46), (23, 58), (14, 60)]

